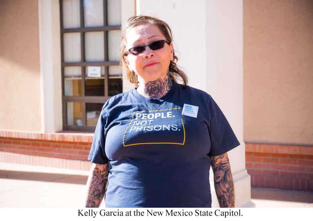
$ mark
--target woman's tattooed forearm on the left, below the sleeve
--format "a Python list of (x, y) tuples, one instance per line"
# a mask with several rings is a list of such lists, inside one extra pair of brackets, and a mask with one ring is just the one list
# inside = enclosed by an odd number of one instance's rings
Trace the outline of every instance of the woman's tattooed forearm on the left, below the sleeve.
[(109, 166), (106, 164), (93, 163), (87, 180), (87, 196), (85, 207), (99, 207), (105, 194), (108, 182)]

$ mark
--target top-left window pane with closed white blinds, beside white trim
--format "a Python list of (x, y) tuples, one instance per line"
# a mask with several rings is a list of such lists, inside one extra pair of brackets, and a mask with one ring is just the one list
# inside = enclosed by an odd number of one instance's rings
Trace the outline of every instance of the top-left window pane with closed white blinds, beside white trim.
[(63, 28), (80, 27), (79, 0), (63, 0)]

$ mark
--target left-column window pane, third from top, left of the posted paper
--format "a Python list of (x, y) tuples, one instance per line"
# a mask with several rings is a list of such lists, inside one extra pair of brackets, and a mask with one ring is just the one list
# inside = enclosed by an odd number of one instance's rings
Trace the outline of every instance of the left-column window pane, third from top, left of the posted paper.
[(64, 95), (81, 96), (81, 67), (64, 67)]

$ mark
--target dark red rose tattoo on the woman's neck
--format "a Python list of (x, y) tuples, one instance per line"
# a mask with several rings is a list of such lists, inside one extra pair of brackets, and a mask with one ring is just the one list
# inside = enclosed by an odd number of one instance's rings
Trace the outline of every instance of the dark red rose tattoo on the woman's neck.
[(159, 78), (157, 80), (146, 82), (144, 85), (145, 88), (144, 90), (141, 90), (142, 93), (140, 94), (148, 98), (159, 99), (167, 94), (167, 92), (171, 89), (172, 84), (173, 81), (167, 72), (163, 79)]

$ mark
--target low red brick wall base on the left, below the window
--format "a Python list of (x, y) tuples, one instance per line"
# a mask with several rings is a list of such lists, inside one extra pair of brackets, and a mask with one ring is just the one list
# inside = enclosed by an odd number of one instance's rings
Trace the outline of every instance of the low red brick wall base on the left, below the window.
[(0, 161), (89, 170), (93, 133), (0, 131)]

